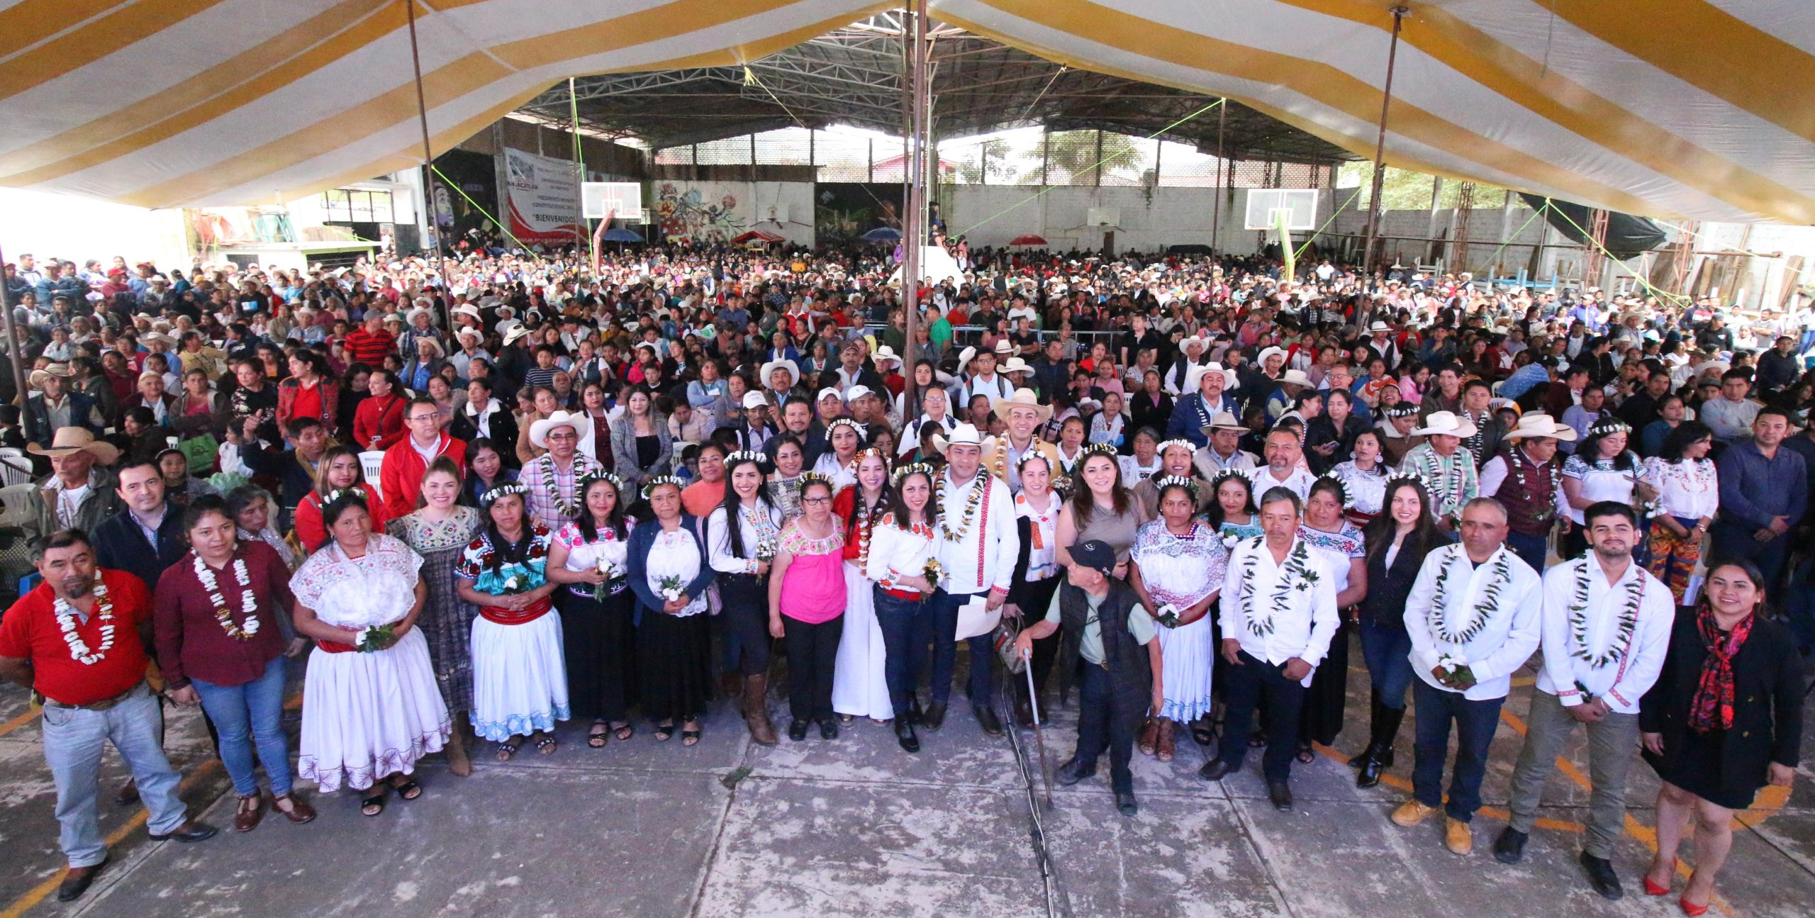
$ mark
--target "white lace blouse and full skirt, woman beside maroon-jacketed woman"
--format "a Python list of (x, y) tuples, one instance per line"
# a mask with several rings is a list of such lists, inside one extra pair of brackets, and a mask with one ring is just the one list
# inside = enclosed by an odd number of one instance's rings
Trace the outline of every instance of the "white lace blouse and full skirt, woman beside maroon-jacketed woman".
[[(309, 555), (290, 577), (290, 591), (325, 624), (390, 624), (416, 604), (421, 564), (410, 546), (372, 533), (363, 557), (348, 559), (338, 544)], [(441, 751), (452, 729), (421, 630), (372, 653), (318, 646), (303, 680), (298, 775), (323, 793), (343, 784), (363, 791), (385, 775), (416, 771), (419, 758)]]

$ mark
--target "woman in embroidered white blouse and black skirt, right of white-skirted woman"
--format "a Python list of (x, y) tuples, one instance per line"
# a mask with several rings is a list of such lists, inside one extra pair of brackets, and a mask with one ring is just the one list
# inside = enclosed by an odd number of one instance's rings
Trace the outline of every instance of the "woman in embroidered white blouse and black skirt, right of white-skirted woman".
[[(548, 579), (564, 584), (561, 648), (566, 657), (568, 704), (590, 717), (586, 746), (603, 749), (606, 737), (628, 740), (626, 708), (632, 688), (630, 566), (632, 521), (624, 517), (617, 475), (599, 472), (579, 483), (579, 519), (555, 530), (548, 542)], [(559, 595), (559, 593), (557, 593)]]

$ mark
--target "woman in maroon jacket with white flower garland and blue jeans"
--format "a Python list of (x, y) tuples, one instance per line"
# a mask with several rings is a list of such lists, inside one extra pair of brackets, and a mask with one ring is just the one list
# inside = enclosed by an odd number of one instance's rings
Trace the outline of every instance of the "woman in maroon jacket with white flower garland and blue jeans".
[(221, 764), (240, 795), (234, 829), (265, 815), (258, 762), (272, 806), (296, 824), (314, 807), (290, 795), (290, 744), (283, 735), (283, 655), (301, 649), (290, 628), (290, 571), (265, 542), (240, 542), (227, 504), (198, 497), (183, 513), (191, 552), (158, 579), (152, 601), (158, 662), (180, 704), (201, 704), (220, 729)]

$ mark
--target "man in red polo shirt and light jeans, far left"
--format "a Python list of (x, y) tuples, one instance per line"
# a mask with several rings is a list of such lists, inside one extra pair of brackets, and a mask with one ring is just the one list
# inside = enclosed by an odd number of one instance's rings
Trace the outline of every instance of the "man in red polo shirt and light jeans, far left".
[(82, 530), (45, 539), (44, 577), (0, 619), (0, 677), (44, 697), (44, 760), (56, 780), (56, 822), (69, 873), (58, 902), (89, 889), (107, 864), (96, 820), (102, 753), (113, 742), (138, 780), (154, 842), (201, 842), (178, 775), (163, 757), (158, 698), (145, 684), (151, 593), (138, 577), (100, 570)]

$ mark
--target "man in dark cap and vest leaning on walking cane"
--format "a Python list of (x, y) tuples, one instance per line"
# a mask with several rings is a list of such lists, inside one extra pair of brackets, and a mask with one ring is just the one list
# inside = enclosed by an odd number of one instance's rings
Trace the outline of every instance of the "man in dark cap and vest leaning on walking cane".
[(1071, 546), (1065, 584), (1053, 595), (1045, 619), (1015, 639), (1015, 651), (1031, 655), (1035, 640), (1064, 624), (1058, 662), (1078, 666), (1082, 659), (1082, 666), (1078, 749), (1058, 766), (1058, 782), (1071, 786), (1096, 775), (1096, 757), (1107, 747), (1116, 809), (1133, 816), (1140, 807), (1129, 760), (1134, 757), (1134, 729), (1149, 708), (1160, 708), (1160, 644), (1140, 597), (1111, 577), (1114, 568), (1116, 553), (1107, 542), (1091, 539)]

